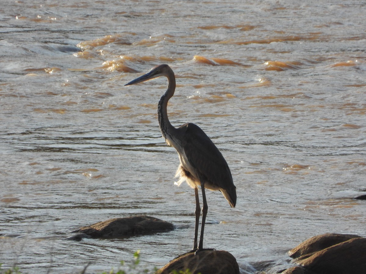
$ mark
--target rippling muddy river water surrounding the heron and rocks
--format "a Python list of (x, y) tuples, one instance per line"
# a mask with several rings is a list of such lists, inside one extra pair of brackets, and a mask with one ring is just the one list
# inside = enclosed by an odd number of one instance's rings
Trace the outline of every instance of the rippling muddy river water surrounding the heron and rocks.
[[(156, 120), (167, 63), (175, 126), (194, 122), (227, 160), (231, 209), (208, 192), (205, 247), (241, 273), (274, 273), (325, 232), (366, 236), (365, 3), (4, 1), (0, 12), (0, 263), (24, 273), (153, 270), (190, 250), (194, 191)], [(178, 229), (64, 240), (146, 214)]]

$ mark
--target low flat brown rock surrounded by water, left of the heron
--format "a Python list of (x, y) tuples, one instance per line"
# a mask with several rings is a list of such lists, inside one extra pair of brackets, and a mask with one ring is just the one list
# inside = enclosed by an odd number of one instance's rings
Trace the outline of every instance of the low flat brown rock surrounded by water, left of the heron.
[(144, 235), (162, 231), (170, 231), (175, 227), (170, 222), (150, 216), (131, 216), (113, 218), (97, 222), (88, 227), (81, 227), (73, 231), (78, 233), (68, 239), (80, 240), (84, 237), (91, 238), (119, 238), (131, 235)]

